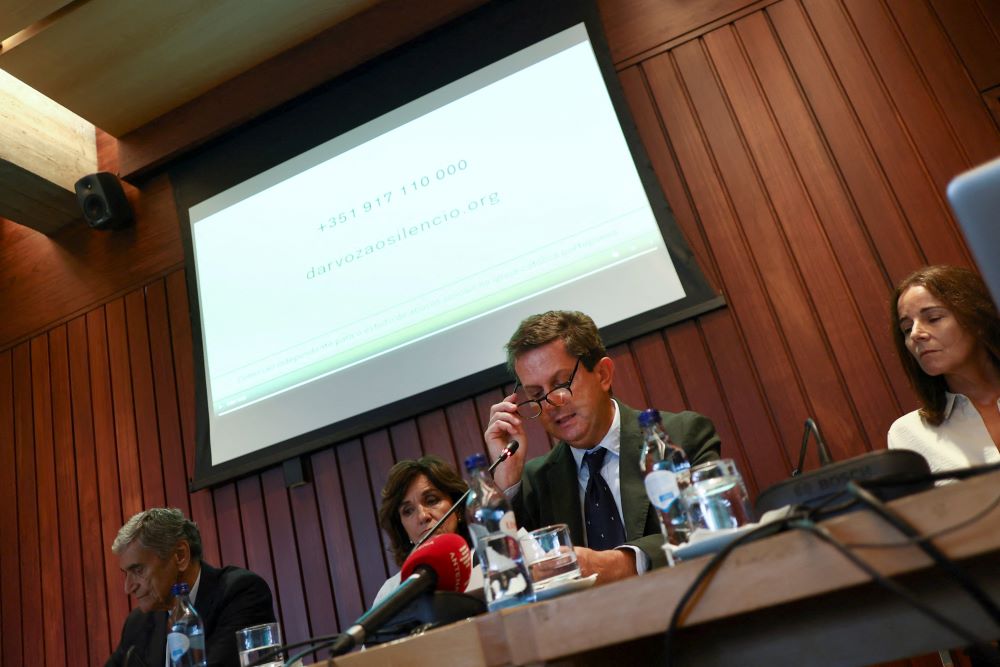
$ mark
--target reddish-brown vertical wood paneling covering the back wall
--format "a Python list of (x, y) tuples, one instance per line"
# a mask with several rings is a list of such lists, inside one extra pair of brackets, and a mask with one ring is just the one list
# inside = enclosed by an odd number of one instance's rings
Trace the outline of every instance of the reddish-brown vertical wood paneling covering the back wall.
[[(729, 306), (610, 350), (615, 393), (711, 417), (758, 493), (787, 477), (807, 416), (843, 459), (883, 447), (914, 406), (886, 296), (926, 262), (970, 263), (942, 193), (1000, 153), (983, 97), (1000, 71), (998, 33), (983, 29), (995, 12), (980, 0), (720, 0), (703, 4), (725, 16), (699, 26), (670, 16), (674, 4), (602, 11), (618, 12), (609, 39), (657, 177)], [(648, 29), (681, 19), (686, 38)], [(289, 640), (346, 627), (397, 570), (376, 518), (388, 469), (483, 451), (490, 405), (511, 388), (308, 455), (294, 489), (275, 468), (190, 494), (176, 215), (165, 181), (132, 195), (131, 232), (47, 239), (0, 221), (4, 664), (29, 647), (45, 664), (103, 663), (129, 610), (109, 546), (152, 504), (190, 512), (210, 562), (264, 576)], [(552, 444), (537, 422), (528, 434), (529, 456)]]

